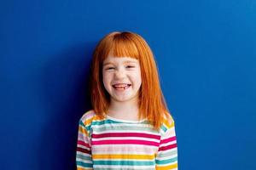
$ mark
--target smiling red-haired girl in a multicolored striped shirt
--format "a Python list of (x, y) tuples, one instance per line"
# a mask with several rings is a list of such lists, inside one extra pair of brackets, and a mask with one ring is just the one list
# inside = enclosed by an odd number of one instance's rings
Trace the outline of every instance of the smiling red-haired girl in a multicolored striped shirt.
[(128, 31), (103, 37), (90, 86), (93, 110), (79, 121), (78, 170), (177, 169), (174, 122), (143, 37)]

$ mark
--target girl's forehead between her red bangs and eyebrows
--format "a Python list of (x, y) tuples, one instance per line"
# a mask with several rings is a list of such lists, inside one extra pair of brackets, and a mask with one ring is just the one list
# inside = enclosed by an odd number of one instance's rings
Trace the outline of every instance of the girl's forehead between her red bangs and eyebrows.
[(122, 56), (122, 57), (117, 57), (117, 56), (113, 56), (113, 55), (108, 55), (108, 57), (106, 59), (104, 59), (103, 61), (103, 65), (109, 65), (109, 64), (129, 64), (129, 63), (135, 63), (138, 64), (139, 61), (138, 59), (134, 59), (131, 57), (126, 57), (126, 56)]

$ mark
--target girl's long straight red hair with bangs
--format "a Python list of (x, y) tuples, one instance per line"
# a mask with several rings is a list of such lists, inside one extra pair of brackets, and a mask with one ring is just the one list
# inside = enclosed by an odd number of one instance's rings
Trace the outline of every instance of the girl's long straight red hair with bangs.
[(98, 116), (104, 116), (110, 105), (110, 96), (102, 82), (102, 63), (112, 52), (113, 56), (138, 59), (141, 67), (142, 86), (139, 92), (139, 117), (147, 118), (160, 128), (169, 116), (166, 101), (160, 88), (154, 55), (143, 37), (130, 31), (112, 32), (97, 44), (93, 54), (90, 80), (91, 104)]

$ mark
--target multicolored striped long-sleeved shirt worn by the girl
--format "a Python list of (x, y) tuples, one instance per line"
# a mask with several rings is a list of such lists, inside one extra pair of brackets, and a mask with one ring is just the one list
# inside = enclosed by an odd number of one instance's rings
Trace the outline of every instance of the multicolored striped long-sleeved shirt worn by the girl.
[(79, 121), (77, 169), (177, 169), (177, 140), (172, 116), (160, 130), (146, 120), (131, 122), (94, 111)]

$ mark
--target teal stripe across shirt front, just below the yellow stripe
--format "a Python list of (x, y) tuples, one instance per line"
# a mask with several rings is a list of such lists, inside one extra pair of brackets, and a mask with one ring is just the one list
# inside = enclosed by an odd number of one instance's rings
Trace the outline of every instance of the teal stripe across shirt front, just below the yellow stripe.
[(154, 161), (93, 161), (94, 165), (152, 166)]

